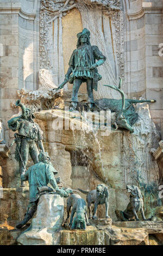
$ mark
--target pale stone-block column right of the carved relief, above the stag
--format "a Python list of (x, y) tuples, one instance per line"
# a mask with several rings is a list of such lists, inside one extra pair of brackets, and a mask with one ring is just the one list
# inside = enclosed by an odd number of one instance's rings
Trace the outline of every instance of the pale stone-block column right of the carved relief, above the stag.
[(130, 1), (124, 53), (128, 97), (156, 99), (149, 109), (158, 130), (163, 120), (162, 8), (157, 0)]

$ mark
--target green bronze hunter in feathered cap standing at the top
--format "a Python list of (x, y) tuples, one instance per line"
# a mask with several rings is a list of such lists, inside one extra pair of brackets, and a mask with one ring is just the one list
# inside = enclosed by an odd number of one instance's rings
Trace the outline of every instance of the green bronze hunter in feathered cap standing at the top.
[(99, 51), (98, 47), (90, 44), (90, 32), (86, 28), (78, 33), (77, 37), (77, 49), (73, 51), (70, 58), (65, 80), (57, 88), (57, 90), (63, 88), (67, 82), (73, 84), (70, 111), (77, 108), (78, 91), (83, 82), (86, 82), (87, 103), (89, 108), (92, 109), (94, 103), (93, 90), (97, 91), (98, 80), (102, 79), (102, 76), (98, 74), (97, 67), (106, 60), (106, 57)]

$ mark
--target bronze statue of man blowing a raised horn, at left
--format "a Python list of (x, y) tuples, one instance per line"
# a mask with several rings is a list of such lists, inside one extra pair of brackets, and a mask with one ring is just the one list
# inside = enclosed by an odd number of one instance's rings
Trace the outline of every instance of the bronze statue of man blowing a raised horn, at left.
[[(39, 127), (39, 124), (33, 121), (34, 115), (32, 110), (26, 108), (20, 100), (16, 102), (17, 106), (20, 106), (22, 109), (22, 115), (13, 117), (8, 121), (8, 126), (12, 131), (16, 131), (15, 139), (12, 142), (11, 146), (16, 143), (15, 150), (15, 159), (19, 162), (20, 165), (20, 175), (26, 171), (26, 165), (28, 162), (28, 153), (32, 158), (34, 163), (39, 162), (38, 154), (39, 151), (43, 152), (42, 144), (42, 131)], [(21, 186), (25, 186), (24, 182), (21, 183)]]

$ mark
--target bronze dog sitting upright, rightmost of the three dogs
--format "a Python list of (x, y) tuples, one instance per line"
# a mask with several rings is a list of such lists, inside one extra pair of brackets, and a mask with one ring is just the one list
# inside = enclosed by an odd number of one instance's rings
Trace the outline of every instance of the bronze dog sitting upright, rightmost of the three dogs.
[(123, 211), (115, 210), (118, 221), (129, 221), (135, 216), (136, 221), (139, 221), (137, 212), (141, 212), (143, 221), (147, 221), (143, 211), (143, 200), (140, 189), (137, 186), (127, 185), (126, 189), (130, 193), (130, 203), (127, 209)]

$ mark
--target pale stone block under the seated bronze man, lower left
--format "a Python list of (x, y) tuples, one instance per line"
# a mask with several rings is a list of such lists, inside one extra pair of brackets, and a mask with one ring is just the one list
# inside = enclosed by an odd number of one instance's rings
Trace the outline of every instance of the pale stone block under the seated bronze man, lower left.
[(60, 195), (41, 195), (36, 215), (29, 229), (18, 237), (18, 245), (54, 245), (57, 243), (55, 231), (60, 229), (63, 217), (64, 199)]

